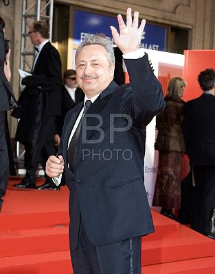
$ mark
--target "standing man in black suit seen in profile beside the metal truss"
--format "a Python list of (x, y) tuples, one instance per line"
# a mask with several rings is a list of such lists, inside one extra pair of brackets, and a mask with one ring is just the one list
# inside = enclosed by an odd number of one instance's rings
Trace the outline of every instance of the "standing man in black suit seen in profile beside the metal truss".
[[(17, 188), (36, 188), (36, 170), (55, 151), (54, 130), (56, 116), (61, 112), (61, 62), (60, 55), (49, 42), (45, 22), (34, 22), (28, 32), (36, 46), (32, 75), (23, 79), (26, 86), (19, 103), (23, 112), (16, 131), (16, 140), (25, 145), (26, 175)], [(46, 176), (44, 186), (52, 188)]]

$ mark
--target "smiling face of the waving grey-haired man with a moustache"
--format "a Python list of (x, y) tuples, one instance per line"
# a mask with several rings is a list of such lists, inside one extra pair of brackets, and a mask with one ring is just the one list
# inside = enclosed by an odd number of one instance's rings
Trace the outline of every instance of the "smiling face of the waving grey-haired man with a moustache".
[(102, 92), (113, 80), (114, 64), (110, 64), (106, 50), (100, 45), (85, 46), (76, 58), (78, 86), (87, 97)]

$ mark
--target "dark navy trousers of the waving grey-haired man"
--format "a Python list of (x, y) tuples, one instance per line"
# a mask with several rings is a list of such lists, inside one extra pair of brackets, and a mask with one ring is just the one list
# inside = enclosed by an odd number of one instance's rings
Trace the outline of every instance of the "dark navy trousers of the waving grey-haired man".
[(71, 249), (73, 273), (141, 274), (141, 242), (142, 237), (136, 237), (109, 245), (95, 246), (90, 242), (81, 224), (78, 248)]

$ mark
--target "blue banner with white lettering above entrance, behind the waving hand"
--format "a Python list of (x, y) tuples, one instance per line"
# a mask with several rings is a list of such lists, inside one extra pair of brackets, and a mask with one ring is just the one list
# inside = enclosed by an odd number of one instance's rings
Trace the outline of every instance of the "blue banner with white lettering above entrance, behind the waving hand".
[[(112, 16), (75, 10), (73, 20), (73, 43), (78, 45), (95, 34), (104, 34), (113, 42), (110, 26), (113, 25), (118, 30), (117, 18)], [(144, 49), (165, 51), (166, 27), (146, 23), (141, 44)]]

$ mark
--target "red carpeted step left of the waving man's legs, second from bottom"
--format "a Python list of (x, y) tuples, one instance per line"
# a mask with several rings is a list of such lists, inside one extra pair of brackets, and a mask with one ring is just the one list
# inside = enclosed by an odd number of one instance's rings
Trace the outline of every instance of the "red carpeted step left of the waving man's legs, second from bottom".
[(68, 227), (1, 232), (0, 257), (69, 249)]

